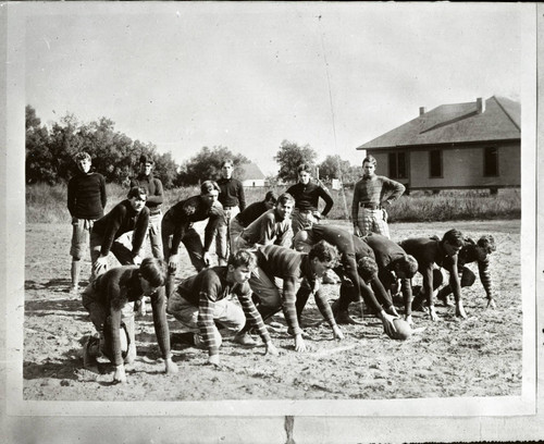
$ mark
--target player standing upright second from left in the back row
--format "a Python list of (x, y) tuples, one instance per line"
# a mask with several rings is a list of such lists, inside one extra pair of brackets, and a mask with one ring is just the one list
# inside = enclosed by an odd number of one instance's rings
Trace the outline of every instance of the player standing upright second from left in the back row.
[(131, 180), (131, 188), (134, 186), (143, 187), (147, 190), (146, 207), (149, 208), (149, 243), (153, 257), (162, 259), (162, 238), (161, 238), (161, 205), (162, 205), (162, 182), (153, 177), (154, 162), (145, 155), (139, 158), (139, 174)]

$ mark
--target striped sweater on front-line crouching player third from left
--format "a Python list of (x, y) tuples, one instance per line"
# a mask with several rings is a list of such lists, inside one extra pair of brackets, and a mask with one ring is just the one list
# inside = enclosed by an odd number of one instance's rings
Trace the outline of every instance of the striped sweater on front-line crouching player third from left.
[(323, 318), (331, 326), (336, 325), (326, 296), (319, 289), (319, 283), (311, 269), (308, 255), (277, 245), (268, 245), (257, 250), (257, 264), (269, 278), (283, 280), (282, 308), (287, 325), (294, 335), (302, 333), (302, 329), (298, 325), (295, 287), (296, 283), (304, 278), (308, 280), (310, 288), (318, 287), (314, 298)]

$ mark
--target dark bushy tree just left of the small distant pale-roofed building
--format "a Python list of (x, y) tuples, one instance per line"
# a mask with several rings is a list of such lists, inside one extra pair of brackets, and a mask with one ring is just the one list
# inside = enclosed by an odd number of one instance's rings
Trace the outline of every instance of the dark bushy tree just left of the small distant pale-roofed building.
[(221, 176), (221, 164), (224, 160), (231, 159), (234, 163), (234, 175), (242, 176), (243, 165), (249, 160), (243, 155), (235, 155), (226, 147), (202, 147), (193, 158), (182, 164), (176, 184), (196, 185), (200, 181), (217, 181)]

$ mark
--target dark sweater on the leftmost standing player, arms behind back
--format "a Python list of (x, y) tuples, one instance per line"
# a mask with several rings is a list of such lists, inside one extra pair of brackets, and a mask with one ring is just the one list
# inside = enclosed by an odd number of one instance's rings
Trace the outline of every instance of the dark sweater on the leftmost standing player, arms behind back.
[(79, 173), (70, 180), (67, 208), (72, 218), (100, 219), (107, 201), (106, 181), (101, 174)]

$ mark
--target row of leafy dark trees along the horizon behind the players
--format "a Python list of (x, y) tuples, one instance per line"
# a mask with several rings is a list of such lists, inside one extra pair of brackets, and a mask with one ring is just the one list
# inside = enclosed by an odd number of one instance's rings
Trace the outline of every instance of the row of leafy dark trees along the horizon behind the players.
[[(205, 177), (219, 178), (221, 163), (225, 159), (233, 160), (235, 176), (245, 178), (244, 165), (249, 163), (245, 156), (232, 152), (227, 147), (214, 146), (202, 147), (180, 165), (171, 152), (160, 153), (152, 143), (133, 140), (115, 131), (115, 124), (110, 119), (83, 123), (69, 113), (49, 128), (29, 104), (25, 108), (25, 128), (27, 184), (67, 182), (77, 172), (73, 158), (79, 151), (90, 155), (94, 168), (107, 182), (118, 184), (126, 183), (136, 174), (141, 155), (151, 157), (154, 160), (153, 174), (165, 188), (196, 185)], [(309, 145), (283, 140), (274, 156), (279, 165), (277, 175), (268, 177), (268, 182), (271, 185), (295, 182), (296, 169), (302, 162), (313, 166), (319, 177), (325, 181), (342, 178), (344, 183), (354, 183), (360, 175), (360, 168), (350, 165), (337, 155), (327, 156), (321, 163), (317, 158), (317, 152)]]

